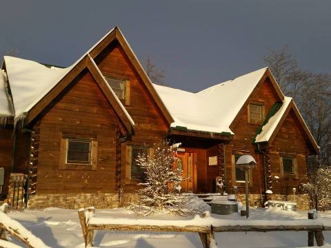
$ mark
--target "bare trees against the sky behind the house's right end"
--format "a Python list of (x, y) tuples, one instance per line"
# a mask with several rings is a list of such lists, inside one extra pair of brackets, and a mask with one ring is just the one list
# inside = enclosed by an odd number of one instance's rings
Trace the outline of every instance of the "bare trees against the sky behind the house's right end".
[(320, 162), (323, 165), (331, 165), (331, 74), (301, 70), (288, 45), (279, 51), (270, 49), (264, 62), (284, 94), (291, 96), (297, 103), (312, 135), (321, 147)]

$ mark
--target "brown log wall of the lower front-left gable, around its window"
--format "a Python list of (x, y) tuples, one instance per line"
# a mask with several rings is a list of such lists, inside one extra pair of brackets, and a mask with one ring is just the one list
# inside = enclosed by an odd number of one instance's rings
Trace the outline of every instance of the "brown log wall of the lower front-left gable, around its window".
[[(116, 132), (121, 127), (106, 96), (84, 70), (41, 118), (37, 194), (117, 193)], [(60, 169), (63, 134), (97, 138), (95, 170)]]

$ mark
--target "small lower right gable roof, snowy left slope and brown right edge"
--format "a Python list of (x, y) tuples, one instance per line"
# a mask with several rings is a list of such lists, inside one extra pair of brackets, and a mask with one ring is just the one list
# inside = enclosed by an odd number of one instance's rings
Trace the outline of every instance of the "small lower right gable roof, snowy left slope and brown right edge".
[(319, 154), (319, 145), (317, 145), (314, 136), (312, 136), (308, 126), (305, 124), (305, 121), (303, 120), (297, 105), (295, 105), (293, 99), (288, 96), (285, 96), (284, 102), (279, 110), (274, 113), (274, 115), (272, 115), (263, 125), (261, 132), (255, 137), (255, 143), (268, 142), (271, 144), (291, 110), (293, 110), (295, 116), (297, 116), (299, 123), (305, 132), (305, 135), (308, 137), (308, 140), (312, 145), (312, 148), (316, 154)]

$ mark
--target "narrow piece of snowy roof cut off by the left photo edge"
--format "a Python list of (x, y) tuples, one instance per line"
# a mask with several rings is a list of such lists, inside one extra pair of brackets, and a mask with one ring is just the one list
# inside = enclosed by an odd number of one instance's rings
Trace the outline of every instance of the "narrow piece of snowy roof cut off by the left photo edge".
[(6, 73), (0, 70), (0, 126), (6, 123), (6, 119), (14, 116), (14, 110), (7, 92)]

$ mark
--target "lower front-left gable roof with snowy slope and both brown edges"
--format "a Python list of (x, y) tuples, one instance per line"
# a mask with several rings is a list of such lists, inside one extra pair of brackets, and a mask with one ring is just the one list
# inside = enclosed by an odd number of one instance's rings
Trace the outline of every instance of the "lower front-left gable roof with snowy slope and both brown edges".
[[(115, 112), (126, 126), (126, 129), (129, 132), (134, 131), (134, 121), (116, 94), (114, 94), (112, 88), (106, 83), (106, 79), (104, 79), (89, 54), (79, 59), (78, 63), (69, 68), (48, 68), (46, 65), (41, 65), (34, 61), (10, 56), (5, 56), (3, 61), (8, 75), (12, 104), (14, 105), (12, 115), (15, 123), (21, 118), (25, 118), (26, 113), (28, 113), (28, 123), (32, 121), (29, 114), (38, 103), (45, 106), (48, 105), (50, 103), (49, 100), (54, 99), (49, 97), (50, 95), (56, 97), (79, 72), (88, 68), (94, 80), (98, 83), (106, 98), (114, 107)], [(5, 91), (3, 90), (3, 92)], [(53, 92), (55, 94), (52, 94)], [(37, 113), (32, 113), (37, 115)]]

